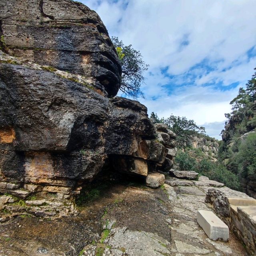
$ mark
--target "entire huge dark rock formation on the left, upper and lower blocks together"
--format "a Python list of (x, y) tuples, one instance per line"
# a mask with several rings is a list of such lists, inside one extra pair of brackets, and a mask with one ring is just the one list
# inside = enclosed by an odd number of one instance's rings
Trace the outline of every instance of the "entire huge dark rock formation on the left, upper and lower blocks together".
[(121, 68), (94, 11), (4, 0), (0, 26), (0, 192), (69, 199), (107, 165), (170, 170), (175, 134), (155, 128), (139, 102), (111, 98)]

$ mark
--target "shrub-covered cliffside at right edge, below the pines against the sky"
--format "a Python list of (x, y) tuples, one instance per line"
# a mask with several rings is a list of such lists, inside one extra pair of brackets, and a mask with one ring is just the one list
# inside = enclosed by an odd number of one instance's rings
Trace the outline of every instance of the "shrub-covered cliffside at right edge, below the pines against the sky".
[[(256, 104), (252, 108), (251, 116), (246, 117), (238, 113), (230, 118), (222, 133), (222, 143), (218, 152), (218, 157), (224, 165), (238, 175), (244, 192), (254, 198), (256, 198), (256, 175), (253, 167), (255, 164), (253, 145), (255, 145), (256, 130), (254, 126), (246, 123), (253, 119), (255, 110)], [(250, 166), (254, 169), (251, 172)]]

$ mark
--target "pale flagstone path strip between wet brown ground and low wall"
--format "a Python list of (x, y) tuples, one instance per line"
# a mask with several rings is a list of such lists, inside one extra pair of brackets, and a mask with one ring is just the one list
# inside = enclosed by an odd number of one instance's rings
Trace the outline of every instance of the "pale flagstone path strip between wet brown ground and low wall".
[[(242, 244), (231, 232), (229, 242), (212, 241), (197, 224), (196, 213), (198, 210), (213, 211), (210, 205), (204, 202), (206, 192), (213, 187), (191, 186), (191, 184), (188, 186), (186, 180), (179, 180), (179, 182), (180, 184), (184, 182), (186, 186), (172, 187), (177, 193), (171, 214), (171, 251), (175, 252), (173, 255), (246, 256), (247, 254)], [(202, 182), (202, 185), (205, 185), (205, 183)], [(233, 196), (247, 197), (244, 193), (236, 192), (226, 187), (218, 189), (226, 191)]]

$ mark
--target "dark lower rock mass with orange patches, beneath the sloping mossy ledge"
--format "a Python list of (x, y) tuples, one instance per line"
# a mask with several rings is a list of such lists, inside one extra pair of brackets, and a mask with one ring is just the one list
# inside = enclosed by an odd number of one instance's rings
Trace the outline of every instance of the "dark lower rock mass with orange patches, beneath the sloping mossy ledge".
[(93, 178), (109, 154), (132, 156), (142, 136), (155, 136), (138, 102), (108, 100), (83, 84), (24, 66), (2, 63), (0, 74), (0, 164), (8, 181), (72, 187)]

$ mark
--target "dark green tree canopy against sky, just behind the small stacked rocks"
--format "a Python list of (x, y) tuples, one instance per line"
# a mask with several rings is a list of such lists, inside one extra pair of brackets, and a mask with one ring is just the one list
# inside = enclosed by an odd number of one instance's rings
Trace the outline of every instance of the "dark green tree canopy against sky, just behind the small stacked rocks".
[(188, 120), (186, 117), (170, 115), (168, 118), (159, 118), (154, 112), (151, 113), (150, 119), (155, 123), (166, 124), (176, 135), (179, 146), (184, 147), (192, 135), (201, 134), (206, 136), (205, 128), (198, 127), (194, 120)]

